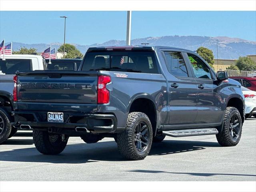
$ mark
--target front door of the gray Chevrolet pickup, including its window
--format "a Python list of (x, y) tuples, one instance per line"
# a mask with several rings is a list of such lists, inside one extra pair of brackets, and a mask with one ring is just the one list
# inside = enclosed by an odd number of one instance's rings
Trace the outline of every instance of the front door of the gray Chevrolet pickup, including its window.
[(198, 56), (188, 53), (190, 67), (194, 73), (197, 94), (196, 124), (219, 123), (223, 114), (222, 98), (218, 93), (218, 84), (206, 63)]

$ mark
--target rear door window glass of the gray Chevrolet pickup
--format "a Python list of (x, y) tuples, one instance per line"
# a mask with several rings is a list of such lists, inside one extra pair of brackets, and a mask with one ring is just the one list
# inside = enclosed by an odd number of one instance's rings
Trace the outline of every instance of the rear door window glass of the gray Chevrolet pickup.
[(184, 59), (182, 58), (181, 52), (164, 52), (166, 58), (166, 65), (170, 73), (181, 76), (188, 77), (188, 71)]

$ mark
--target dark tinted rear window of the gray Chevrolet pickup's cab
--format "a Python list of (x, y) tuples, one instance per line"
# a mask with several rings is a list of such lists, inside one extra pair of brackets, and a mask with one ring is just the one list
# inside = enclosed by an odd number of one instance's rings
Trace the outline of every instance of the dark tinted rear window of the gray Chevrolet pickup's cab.
[(154, 52), (88, 52), (82, 71), (158, 73)]

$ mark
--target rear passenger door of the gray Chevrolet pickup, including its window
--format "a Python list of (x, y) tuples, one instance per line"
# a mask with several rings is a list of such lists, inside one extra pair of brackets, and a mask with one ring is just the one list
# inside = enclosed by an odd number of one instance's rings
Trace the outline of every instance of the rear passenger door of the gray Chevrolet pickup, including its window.
[(163, 51), (169, 84), (169, 125), (194, 124), (197, 87), (182, 52)]

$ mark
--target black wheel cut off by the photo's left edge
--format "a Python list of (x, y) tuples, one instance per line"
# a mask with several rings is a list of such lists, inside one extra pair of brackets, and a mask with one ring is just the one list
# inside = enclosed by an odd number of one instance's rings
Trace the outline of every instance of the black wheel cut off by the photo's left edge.
[[(3, 110), (2, 108), (0, 108), (0, 121), (3, 122), (0, 124), (3, 126), (1, 128), (3, 128), (3, 130), (0, 132), (0, 144), (2, 144), (2, 142), (4, 142), (6, 139), (8, 139), (9, 135), (10, 135), (10, 132), (12, 130), (12, 126), (11, 126), (11, 123), (10, 123), (10, 116), (8, 115), (8, 113), (6, 113), (5, 110)], [(1, 126), (0, 125), (0, 126)]]

